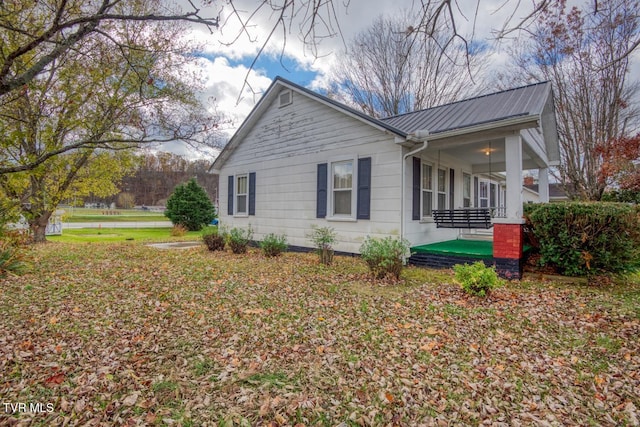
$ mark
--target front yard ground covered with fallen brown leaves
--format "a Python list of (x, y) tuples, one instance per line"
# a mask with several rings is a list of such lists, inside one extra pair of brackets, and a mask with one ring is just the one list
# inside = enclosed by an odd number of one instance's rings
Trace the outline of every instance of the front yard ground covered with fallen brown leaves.
[(640, 420), (637, 284), (525, 281), (482, 300), (448, 273), (370, 281), (356, 258), (59, 243), (33, 256), (0, 281), (2, 425)]

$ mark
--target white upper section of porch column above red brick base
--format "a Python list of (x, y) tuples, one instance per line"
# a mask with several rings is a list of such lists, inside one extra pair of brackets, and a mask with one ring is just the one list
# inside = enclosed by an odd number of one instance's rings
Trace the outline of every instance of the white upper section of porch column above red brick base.
[(507, 194), (506, 221), (511, 224), (522, 223), (522, 138), (520, 133), (507, 136), (504, 143)]

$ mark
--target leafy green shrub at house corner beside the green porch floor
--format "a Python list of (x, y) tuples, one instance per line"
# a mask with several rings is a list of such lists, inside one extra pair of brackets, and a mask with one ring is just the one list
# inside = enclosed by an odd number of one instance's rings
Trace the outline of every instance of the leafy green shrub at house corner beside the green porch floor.
[(360, 255), (369, 266), (376, 279), (391, 276), (396, 280), (402, 272), (403, 258), (409, 251), (409, 242), (405, 239), (385, 237), (377, 239), (367, 236), (360, 246)]

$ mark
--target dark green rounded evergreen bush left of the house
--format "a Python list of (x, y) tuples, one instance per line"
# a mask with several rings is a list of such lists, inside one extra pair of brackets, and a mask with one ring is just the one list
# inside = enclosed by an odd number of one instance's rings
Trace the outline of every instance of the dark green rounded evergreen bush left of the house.
[(195, 179), (178, 185), (167, 200), (164, 215), (174, 224), (189, 231), (199, 231), (216, 218), (216, 209), (209, 196)]

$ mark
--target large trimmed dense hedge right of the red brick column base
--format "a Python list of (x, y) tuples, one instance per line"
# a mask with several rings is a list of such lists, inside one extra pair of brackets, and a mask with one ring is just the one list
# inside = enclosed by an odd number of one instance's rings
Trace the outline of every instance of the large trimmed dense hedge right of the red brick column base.
[(622, 272), (640, 262), (640, 207), (619, 203), (525, 205), (540, 263), (586, 276)]

